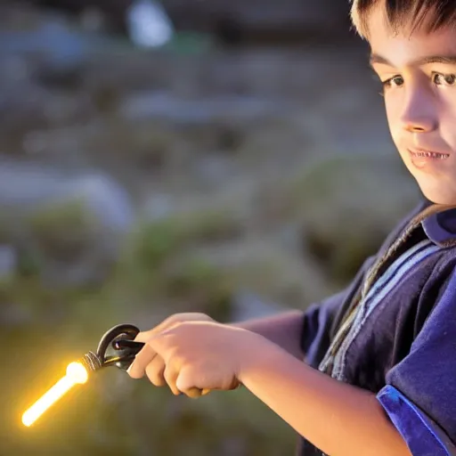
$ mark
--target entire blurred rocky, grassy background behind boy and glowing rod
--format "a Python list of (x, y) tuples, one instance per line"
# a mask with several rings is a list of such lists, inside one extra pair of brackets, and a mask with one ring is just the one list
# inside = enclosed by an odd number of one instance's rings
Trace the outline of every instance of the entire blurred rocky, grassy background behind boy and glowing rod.
[(20, 416), (117, 323), (304, 310), (415, 205), (348, 12), (0, 2), (1, 456), (292, 454), (247, 391), (195, 401), (117, 369)]

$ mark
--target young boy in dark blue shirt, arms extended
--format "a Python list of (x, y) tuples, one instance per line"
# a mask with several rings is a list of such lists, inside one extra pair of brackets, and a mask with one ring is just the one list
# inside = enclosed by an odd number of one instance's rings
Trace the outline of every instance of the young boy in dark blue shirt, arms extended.
[(456, 455), (456, 2), (354, 0), (352, 18), (423, 204), (337, 296), (241, 325), (174, 315), (138, 335), (129, 374), (175, 394), (242, 384), (303, 455)]

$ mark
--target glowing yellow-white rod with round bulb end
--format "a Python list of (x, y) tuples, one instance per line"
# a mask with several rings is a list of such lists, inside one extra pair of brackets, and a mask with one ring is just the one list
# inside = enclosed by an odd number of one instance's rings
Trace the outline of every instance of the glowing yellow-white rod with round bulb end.
[(53, 387), (45, 392), (28, 411), (22, 415), (22, 423), (31, 426), (53, 403), (57, 402), (62, 395), (71, 387), (83, 384), (88, 379), (88, 372), (80, 362), (71, 362), (67, 367), (67, 375), (60, 379)]

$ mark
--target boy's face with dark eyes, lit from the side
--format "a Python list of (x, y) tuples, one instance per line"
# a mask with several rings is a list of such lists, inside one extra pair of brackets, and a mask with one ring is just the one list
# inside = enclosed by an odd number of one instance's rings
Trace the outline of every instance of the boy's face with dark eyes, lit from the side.
[(428, 199), (456, 204), (456, 28), (394, 34), (377, 7), (369, 30), (395, 146)]

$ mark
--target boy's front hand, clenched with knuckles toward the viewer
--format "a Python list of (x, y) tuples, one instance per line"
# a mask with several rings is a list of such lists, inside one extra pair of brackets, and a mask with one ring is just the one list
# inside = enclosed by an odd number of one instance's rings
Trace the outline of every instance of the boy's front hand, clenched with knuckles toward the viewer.
[(142, 334), (149, 337), (142, 338), (146, 345), (128, 374), (133, 379), (146, 374), (155, 385), (155, 360), (160, 357), (165, 362), (163, 377), (173, 393), (192, 397), (195, 388), (206, 393), (239, 387), (242, 366), (253, 361), (267, 343), (253, 332), (216, 322), (182, 322)]

